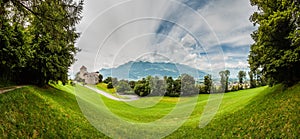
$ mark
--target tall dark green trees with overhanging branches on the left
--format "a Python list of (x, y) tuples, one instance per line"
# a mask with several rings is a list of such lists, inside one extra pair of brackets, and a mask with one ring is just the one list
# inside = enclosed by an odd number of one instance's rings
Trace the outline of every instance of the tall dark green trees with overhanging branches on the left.
[[(0, 0), (0, 81), (68, 81), (83, 2)], [(20, 78), (22, 77), (22, 78)]]

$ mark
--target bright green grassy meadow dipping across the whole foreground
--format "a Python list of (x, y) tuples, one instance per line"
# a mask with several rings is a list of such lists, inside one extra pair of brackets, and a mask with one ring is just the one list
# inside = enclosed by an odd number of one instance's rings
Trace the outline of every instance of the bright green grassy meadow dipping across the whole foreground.
[[(223, 98), (219, 110), (199, 128), (213, 95), (125, 103), (79, 85), (27, 86), (0, 95), (0, 138), (108, 138), (97, 129), (114, 138), (151, 138), (169, 132), (166, 138), (299, 138), (300, 84), (282, 90), (277, 85), (214, 94)], [(178, 125), (174, 132), (170, 129)]]

